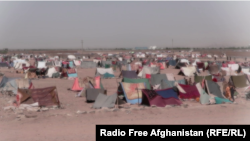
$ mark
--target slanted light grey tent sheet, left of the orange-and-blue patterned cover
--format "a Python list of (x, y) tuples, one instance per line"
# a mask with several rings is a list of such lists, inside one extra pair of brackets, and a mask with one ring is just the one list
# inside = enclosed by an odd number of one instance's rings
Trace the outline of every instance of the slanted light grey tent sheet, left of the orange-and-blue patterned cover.
[(105, 94), (99, 93), (95, 100), (93, 108), (96, 108), (96, 109), (99, 109), (102, 107), (113, 108), (115, 107), (117, 96), (118, 95), (116, 93), (112, 95), (105, 95)]

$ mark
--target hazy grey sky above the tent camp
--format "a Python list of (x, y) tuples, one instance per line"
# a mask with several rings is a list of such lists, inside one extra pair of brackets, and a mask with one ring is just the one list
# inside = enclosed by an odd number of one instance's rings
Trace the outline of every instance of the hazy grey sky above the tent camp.
[(250, 44), (250, 0), (0, 0), (0, 48)]

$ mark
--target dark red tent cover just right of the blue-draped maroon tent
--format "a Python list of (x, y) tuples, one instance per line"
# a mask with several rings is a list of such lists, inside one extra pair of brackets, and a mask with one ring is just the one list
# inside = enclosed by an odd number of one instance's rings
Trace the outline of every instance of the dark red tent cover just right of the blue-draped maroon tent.
[(186, 93), (182, 93), (179, 91), (179, 95), (181, 99), (196, 99), (200, 97), (200, 93), (195, 85), (179, 84), (179, 86), (181, 86), (182, 89), (184, 89), (184, 91), (186, 92)]

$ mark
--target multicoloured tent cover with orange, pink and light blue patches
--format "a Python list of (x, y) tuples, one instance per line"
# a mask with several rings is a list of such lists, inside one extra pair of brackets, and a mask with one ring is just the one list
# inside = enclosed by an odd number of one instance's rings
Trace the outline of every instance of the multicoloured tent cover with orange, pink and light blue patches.
[[(120, 82), (127, 103), (140, 104), (142, 101), (142, 89), (145, 89), (144, 83), (126, 83)], [(138, 89), (137, 89), (138, 88)]]

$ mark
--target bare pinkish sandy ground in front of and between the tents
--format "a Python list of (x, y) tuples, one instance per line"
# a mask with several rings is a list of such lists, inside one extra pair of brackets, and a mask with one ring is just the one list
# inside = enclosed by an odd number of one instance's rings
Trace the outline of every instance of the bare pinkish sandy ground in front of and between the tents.
[[(1, 69), (8, 77), (23, 77)], [(170, 67), (161, 73), (174, 73), (177, 79), (179, 70)], [(81, 77), (94, 76), (95, 69), (78, 69)], [(206, 72), (204, 72), (206, 73)], [(119, 75), (119, 71), (115, 76)], [(227, 78), (228, 79), (228, 78)], [(121, 79), (118, 79), (120, 81)], [(184, 101), (187, 107), (143, 107), (131, 105), (118, 111), (94, 110), (93, 103), (85, 98), (75, 97), (76, 92), (67, 90), (73, 80), (39, 79), (32, 81), (36, 88), (56, 86), (63, 109), (50, 109), (42, 112), (4, 111), (13, 97), (0, 96), (0, 141), (94, 141), (97, 124), (250, 124), (250, 102), (236, 99), (236, 104), (201, 105), (196, 101)], [(116, 79), (103, 79), (108, 94), (117, 90)], [(78, 110), (86, 111), (77, 114)], [(17, 118), (18, 115), (31, 118)]]

